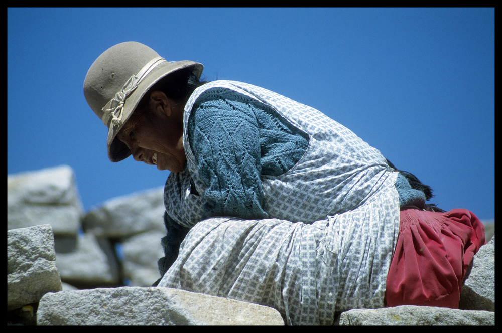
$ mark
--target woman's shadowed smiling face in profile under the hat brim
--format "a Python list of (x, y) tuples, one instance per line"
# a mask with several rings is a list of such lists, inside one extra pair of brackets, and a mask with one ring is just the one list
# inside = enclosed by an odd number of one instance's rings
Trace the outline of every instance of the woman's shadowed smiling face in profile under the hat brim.
[(135, 160), (157, 165), (159, 170), (180, 172), (186, 163), (183, 125), (168, 114), (158, 109), (135, 112), (117, 138), (129, 147)]

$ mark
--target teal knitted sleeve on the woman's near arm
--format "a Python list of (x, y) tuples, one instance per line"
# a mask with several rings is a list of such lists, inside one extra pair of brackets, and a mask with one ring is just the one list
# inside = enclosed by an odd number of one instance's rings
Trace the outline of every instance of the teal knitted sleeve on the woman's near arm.
[(190, 146), (205, 190), (204, 217), (263, 219), (260, 135), (254, 107), (225, 98), (194, 106)]

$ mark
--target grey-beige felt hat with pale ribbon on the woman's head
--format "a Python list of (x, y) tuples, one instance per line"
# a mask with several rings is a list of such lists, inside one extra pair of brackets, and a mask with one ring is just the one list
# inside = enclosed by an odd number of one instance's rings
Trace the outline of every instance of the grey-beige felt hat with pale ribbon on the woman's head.
[(138, 42), (112, 46), (94, 61), (85, 76), (84, 95), (91, 109), (108, 127), (106, 145), (112, 162), (131, 155), (127, 145), (115, 136), (143, 96), (160, 79), (187, 67), (192, 68), (197, 79), (204, 69), (202, 64), (188, 60), (168, 62)]

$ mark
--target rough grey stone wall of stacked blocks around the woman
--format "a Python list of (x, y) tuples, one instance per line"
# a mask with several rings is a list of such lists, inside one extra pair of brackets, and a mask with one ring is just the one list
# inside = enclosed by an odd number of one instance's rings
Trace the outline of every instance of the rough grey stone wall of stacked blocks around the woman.
[[(7, 317), (23, 325), (283, 325), (275, 309), (150, 287), (162, 256), (162, 188), (83, 213), (71, 168), (7, 176)], [(494, 220), (459, 310), (354, 309), (339, 325), (494, 325)], [(148, 244), (148, 246), (146, 246)]]

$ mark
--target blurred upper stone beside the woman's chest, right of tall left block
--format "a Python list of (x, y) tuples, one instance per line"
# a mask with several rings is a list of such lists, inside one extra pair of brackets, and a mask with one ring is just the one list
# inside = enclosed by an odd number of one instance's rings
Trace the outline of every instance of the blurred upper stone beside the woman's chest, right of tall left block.
[(129, 237), (164, 227), (164, 188), (111, 199), (84, 216), (86, 232), (109, 238)]

